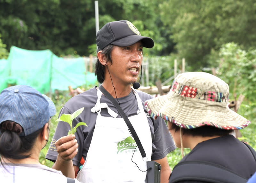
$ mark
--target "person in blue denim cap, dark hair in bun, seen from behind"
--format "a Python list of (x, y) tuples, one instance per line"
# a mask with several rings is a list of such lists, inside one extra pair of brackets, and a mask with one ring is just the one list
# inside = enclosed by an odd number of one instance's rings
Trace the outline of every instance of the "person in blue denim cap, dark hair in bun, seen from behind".
[(55, 114), (51, 99), (30, 86), (11, 86), (1, 92), (1, 182), (67, 182), (61, 171), (39, 163)]

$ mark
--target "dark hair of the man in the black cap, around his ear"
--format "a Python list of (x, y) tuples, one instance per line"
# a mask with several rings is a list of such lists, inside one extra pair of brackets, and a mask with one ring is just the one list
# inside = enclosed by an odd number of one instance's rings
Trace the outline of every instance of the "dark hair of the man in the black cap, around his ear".
[[(114, 45), (109, 44), (102, 50), (102, 53), (101, 53), (101, 54), (104, 54), (105, 59), (107, 60), (107, 62), (110, 62), (110, 64), (112, 64), (111, 52), (113, 50), (113, 46)], [(97, 50), (97, 53), (99, 51), (100, 50)], [(95, 64), (95, 75), (97, 76), (98, 82), (103, 83), (105, 79), (105, 66), (100, 63), (100, 60), (98, 58)]]

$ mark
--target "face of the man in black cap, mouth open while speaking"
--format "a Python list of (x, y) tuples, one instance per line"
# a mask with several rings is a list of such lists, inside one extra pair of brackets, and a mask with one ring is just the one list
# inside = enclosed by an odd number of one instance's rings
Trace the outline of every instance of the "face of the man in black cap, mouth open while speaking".
[(114, 46), (108, 69), (114, 84), (128, 85), (137, 81), (143, 60), (141, 41), (130, 46)]

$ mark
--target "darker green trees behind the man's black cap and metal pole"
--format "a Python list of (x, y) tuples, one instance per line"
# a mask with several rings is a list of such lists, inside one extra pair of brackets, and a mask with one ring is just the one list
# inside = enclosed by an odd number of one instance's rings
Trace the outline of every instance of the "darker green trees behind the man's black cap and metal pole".
[[(172, 42), (166, 39), (159, 19), (164, 0), (99, 1), (100, 28), (109, 21), (129, 20), (142, 35), (151, 36), (155, 47), (145, 52), (166, 54)], [(0, 33), (7, 45), (29, 49), (50, 49), (57, 55), (88, 55), (96, 49), (95, 12), (91, 0), (2, 0)], [(171, 48), (172, 50), (172, 48)], [(95, 51), (95, 50), (94, 50)]]

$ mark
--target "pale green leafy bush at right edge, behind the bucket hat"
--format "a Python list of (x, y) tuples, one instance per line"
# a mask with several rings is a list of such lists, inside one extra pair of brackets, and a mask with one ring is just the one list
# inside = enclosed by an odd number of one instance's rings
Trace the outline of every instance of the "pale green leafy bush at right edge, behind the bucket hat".
[(245, 95), (246, 99), (256, 102), (256, 49), (245, 51), (235, 43), (227, 43), (220, 48), (217, 76), (229, 84), (233, 97)]

